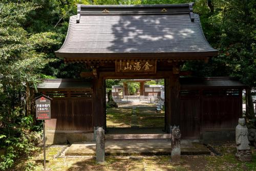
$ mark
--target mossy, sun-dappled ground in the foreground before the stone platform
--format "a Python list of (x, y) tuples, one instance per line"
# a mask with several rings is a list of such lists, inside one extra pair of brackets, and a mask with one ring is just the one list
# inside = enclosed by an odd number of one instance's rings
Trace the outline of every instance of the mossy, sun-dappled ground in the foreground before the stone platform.
[[(87, 157), (58, 157), (63, 149), (61, 146), (47, 148), (47, 170), (256, 170), (256, 149), (252, 147), (252, 162), (240, 162), (235, 157), (234, 142), (214, 145), (222, 156), (182, 156), (180, 163), (173, 163), (170, 156), (106, 156), (105, 163), (96, 164), (95, 158)], [(43, 153), (41, 147), (34, 154), (17, 160), (10, 170), (44, 170), (42, 165)]]

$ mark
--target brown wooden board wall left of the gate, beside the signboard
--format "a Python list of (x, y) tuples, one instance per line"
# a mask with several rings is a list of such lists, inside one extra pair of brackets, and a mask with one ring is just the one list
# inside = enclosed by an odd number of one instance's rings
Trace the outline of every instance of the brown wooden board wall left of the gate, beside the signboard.
[(47, 130), (93, 132), (91, 98), (56, 98), (51, 103), (51, 120), (46, 120)]

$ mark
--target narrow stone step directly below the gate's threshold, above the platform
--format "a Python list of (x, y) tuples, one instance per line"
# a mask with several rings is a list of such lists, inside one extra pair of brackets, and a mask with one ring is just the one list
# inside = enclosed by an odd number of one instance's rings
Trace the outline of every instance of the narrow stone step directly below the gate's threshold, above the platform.
[(105, 135), (105, 140), (164, 140), (171, 137), (170, 134), (115, 134)]

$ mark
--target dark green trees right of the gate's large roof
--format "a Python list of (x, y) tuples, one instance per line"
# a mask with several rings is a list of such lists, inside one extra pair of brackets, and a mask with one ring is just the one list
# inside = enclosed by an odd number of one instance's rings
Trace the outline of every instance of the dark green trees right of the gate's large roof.
[(195, 11), (200, 14), (204, 34), (219, 50), (208, 63), (187, 62), (183, 70), (195, 76), (233, 76), (248, 86), (255, 86), (255, 3), (254, 1), (197, 1)]

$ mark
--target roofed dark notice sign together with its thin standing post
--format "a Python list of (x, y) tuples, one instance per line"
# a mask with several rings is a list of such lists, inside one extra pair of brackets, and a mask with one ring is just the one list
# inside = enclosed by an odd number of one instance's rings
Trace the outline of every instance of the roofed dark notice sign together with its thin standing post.
[(51, 119), (51, 98), (41, 95), (35, 99), (36, 120), (42, 120), (44, 144), (44, 169), (46, 169), (46, 127), (45, 120)]

